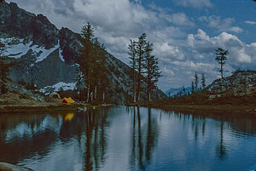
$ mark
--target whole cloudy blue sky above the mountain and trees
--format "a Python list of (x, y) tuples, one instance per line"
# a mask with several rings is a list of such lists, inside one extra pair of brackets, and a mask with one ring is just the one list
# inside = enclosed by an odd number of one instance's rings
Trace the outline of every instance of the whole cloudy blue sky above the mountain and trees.
[[(127, 46), (143, 32), (154, 43), (162, 90), (189, 87), (195, 72), (207, 84), (218, 77), (214, 48), (230, 50), (224, 76), (256, 69), (256, 3), (253, 0), (12, 0), (44, 14), (58, 28), (80, 32), (86, 22), (119, 60), (129, 63)], [(10, 2), (9, 0), (7, 2)]]

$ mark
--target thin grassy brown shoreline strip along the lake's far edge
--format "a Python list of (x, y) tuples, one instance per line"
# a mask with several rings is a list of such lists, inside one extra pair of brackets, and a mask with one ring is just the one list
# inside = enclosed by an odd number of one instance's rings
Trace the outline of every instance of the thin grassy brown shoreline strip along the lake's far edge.
[[(42, 103), (38, 105), (0, 105), (0, 114), (24, 113), (24, 112), (47, 112), (47, 111), (77, 111), (78, 108), (100, 108), (104, 105), (90, 105), (75, 103), (73, 105), (61, 105)], [(109, 105), (108, 105), (109, 106)], [(128, 104), (126, 106), (143, 106), (162, 109), (166, 111), (232, 111), (233, 113), (245, 113), (256, 117), (256, 105), (198, 105), (198, 104), (173, 104), (160, 105), (154, 103)]]

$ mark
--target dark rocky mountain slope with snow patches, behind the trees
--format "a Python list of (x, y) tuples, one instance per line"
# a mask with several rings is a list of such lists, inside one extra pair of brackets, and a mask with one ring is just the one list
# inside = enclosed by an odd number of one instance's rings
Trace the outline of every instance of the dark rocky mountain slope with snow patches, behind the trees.
[[(79, 34), (58, 30), (43, 14), (26, 12), (16, 3), (0, 1), (0, 19), (0, 40), (7, 47), (4, 55), (22, 61), (9, 74), (13, 81), (34, 82), (44, 93), (75, 88)], [(131, 96), (131, 68), (111, 54), (107, 54), (107, 66), (108, 100), (125, 103)], [(153, 99), (164, 96), (158, 88), (153, 90)], [(146, 100), (146, 93), (142, 97)]]

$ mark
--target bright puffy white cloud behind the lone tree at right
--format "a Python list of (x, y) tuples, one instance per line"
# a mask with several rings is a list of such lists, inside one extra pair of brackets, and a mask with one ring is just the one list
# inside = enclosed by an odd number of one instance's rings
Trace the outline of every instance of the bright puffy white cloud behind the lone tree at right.
[(218, 47), (229, 49), (230, 55), (227, 63), (232, 67), (238, 65), (246, 67), (247, 64), (256, 61), (256, 56), (253, 54), (253, 52), (256, 53), (255, 43), (243, 43), (236, 35), (227, 32), (222, 32), (216, 37), (209, 37), (205, 31), (199, 29), (196, 35), (189, 34), (187, 43), (195, 54), (211, 55), (214, 53), (214, 48)]

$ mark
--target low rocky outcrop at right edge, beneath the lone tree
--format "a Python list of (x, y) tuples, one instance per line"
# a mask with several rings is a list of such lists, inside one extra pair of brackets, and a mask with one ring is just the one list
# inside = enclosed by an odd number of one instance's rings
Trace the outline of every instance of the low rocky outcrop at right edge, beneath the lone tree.
[(207, 86), (207, 93), (212, 97), (220, 94), (236, 96), (256, 93), (256, 71), (236, 71), (230, 77), (215, 80)]

